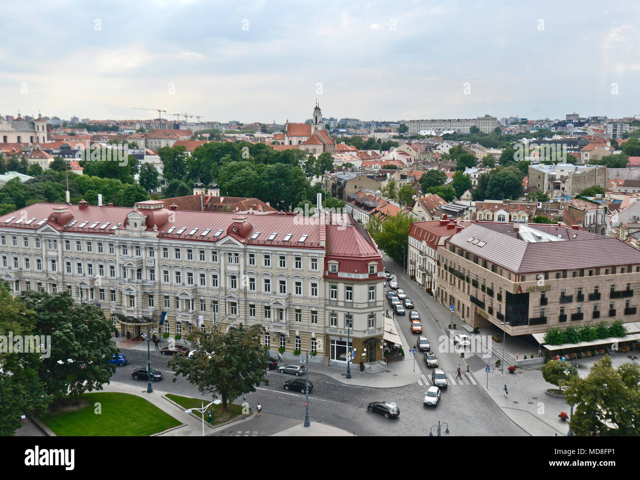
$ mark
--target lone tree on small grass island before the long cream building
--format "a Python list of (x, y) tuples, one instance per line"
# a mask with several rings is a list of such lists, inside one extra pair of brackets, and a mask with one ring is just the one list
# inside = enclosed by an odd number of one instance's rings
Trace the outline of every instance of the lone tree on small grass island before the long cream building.
[(200, 393), (214, 399), (219, 395), (222, 409), (227, 411), (228, 403), (255, 392), (256, 385), (269, 385), (263, 336), (260, 325), (240, 324), (228, 332), (195, 330), (191, 345), (196, 353), (191, 358), (173, 355), (168, 365), (175, 376), (185, 376)]

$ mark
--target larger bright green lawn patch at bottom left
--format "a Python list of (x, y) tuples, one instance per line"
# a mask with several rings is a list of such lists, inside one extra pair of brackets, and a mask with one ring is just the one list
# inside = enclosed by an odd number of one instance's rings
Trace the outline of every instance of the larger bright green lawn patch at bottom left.
[[(100, 414), (95, 403), (100, 403)], [(180, 425), (144, 398), (115, 392), (64, 399), (49, 406), (40, 420), (60, 437), (146, 437)]]

